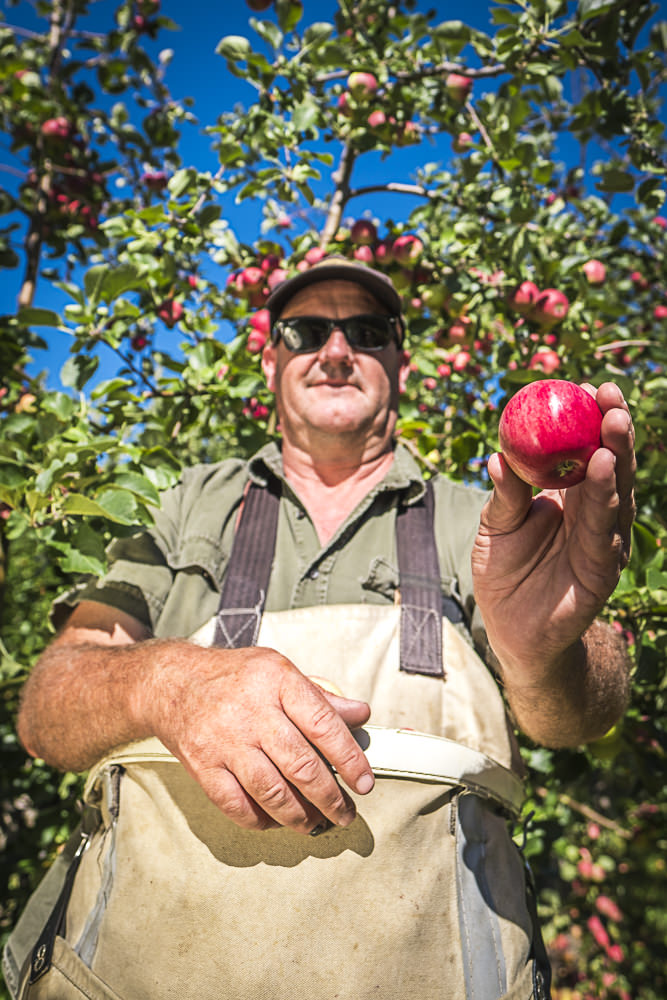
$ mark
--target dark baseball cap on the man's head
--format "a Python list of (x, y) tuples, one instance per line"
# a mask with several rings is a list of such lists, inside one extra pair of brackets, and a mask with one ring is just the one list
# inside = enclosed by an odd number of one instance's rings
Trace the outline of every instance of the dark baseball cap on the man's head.
[(347, 257), (336, 255), (323, 257), (322, 260), (311, 265), (305, 271), (299, 271), (298, 274), (286, 278), (285, 281), (276, 285), (266, 300), (271, 325), (273, 326), (283, 307), (297, 292), (318, 281), (354, 281), (357, 285), (366, 288), (378, 302), (387, 308), (390, 316), (397, 316), (400, 319), (402, 340), (405, 333), (405, 320), (401, 313), (402, 302), (391, 279), (386, 274), (382, 274), (381, 271), (376, 271), (366, 264), (360, 264), (359, 261), (348, 260)]

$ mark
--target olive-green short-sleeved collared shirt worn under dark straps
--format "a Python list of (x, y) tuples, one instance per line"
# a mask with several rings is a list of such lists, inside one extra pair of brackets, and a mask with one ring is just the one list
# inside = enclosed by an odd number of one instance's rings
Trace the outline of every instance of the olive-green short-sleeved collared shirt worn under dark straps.
[[(81, 600), (119, 608), (160, 638), (188, 636), (217, 611), (239, 505), (248, 479), (282, 484), (266, 610), (319, 604), (393, 603), (398, 587), (395, 520), (399, 500), (424, 492), (417, 462), (402, 445), (384, 479), (322, 546), (303, 503), (286, 481), (277, 445), (249, 462), (231, 459), (187, 470), (163, 496), (149, 531), (112, 543), (110, 568), (60, 598), (55, 620)], [(478, 643), (470, 552), (486, 493), (434, 479), (435, 535), (443, 595), (460, 603)]]

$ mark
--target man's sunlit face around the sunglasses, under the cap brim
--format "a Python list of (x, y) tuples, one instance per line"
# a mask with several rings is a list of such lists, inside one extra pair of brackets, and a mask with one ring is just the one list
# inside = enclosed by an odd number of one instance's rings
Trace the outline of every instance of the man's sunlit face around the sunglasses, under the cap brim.
[[(281, 318), (369, 313), (387, 310), (361, 285), (321, 281), (297, 292)], [(307, 447), (321, 435), (342, 435), (372, 450), (391, 439), (409, 370), (408, 355), (395, 342), (381, 351), (355, 351), (334, 329), (319, 350), (307, 354), (290, 353), (282, 341), (268, 344), (262, 365), (286, 439)]]

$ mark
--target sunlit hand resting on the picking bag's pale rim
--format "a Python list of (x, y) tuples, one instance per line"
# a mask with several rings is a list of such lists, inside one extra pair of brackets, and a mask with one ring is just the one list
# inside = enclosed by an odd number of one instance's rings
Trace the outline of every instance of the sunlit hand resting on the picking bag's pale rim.
[(354, 804), (331, 768), (361, 794), (373, 787), (350, 732), (368, 720), (368, 705), (323, 691), (273, 649), (196, 654), (194, 670), (179, 670), (178, 657), (161, 666), (161, 696), (146, 711), (211, 801), (249, 829), (351, 823)]

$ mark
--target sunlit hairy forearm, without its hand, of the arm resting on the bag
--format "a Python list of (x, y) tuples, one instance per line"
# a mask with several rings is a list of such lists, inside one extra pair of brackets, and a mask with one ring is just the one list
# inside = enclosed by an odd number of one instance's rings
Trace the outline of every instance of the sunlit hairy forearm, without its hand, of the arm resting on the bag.
[(196, 651), (179, 640), (122, 646), (56, 641), (23, 690), (21, 742), (53, 767), (83, 771), (112, 747), (154, 735), (157, 679), (168, 663)]

